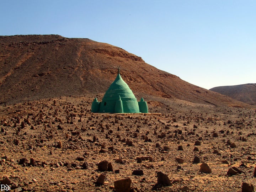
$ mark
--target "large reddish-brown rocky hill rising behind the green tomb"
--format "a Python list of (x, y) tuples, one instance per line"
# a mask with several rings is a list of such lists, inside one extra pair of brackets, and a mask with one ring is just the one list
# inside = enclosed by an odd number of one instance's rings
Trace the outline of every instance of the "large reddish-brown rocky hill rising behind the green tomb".
[(136, 96), (249, 107), (161, 71), (122, 48), (59, 35), (0, 36), (0, 103), (102, 94), (121, 68)]

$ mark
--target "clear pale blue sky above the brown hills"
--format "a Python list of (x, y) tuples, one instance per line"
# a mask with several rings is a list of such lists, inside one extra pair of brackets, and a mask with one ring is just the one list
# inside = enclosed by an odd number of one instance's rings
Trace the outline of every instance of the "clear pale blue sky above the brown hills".
[(0, 35), (109, 43), (194, 85), (256, 83), (255, 0), (0, 0)]

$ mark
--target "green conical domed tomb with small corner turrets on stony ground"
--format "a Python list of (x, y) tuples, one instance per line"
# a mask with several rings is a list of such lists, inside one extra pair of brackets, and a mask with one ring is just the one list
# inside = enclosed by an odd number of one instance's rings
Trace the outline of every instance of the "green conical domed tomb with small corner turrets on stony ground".
[(93, 113), (148, 113), (148, 105), (143, 98), (138, 102), (132, 90), (122, 79), (118, 68), (116, 79), (112, 82), (102, 102), (94, 99), (91, 106)]

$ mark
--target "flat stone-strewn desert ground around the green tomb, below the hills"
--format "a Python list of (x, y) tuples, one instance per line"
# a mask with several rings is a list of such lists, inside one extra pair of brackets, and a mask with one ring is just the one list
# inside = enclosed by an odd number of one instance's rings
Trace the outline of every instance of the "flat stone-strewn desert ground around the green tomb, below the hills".
[(148, 114), (103, 114), (90, 112), (94, 97), (1, 105), (1, 184), (62, 192), (256, 187), (255, 109), (151, 97)]

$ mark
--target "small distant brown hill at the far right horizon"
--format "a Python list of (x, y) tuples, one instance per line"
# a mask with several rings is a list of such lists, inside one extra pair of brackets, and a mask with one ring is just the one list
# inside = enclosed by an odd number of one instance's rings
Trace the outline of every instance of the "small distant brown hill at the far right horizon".
[(233, 86), (220, 86), (210, 89), (222, 95), (229, 96), (235, 100), (256, 105), (256, 84), (242, 84)]

